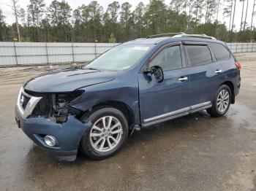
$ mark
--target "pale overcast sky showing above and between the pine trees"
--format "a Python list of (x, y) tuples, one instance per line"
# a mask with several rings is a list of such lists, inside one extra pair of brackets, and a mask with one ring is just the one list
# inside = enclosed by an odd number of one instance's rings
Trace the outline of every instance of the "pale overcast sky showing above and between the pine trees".
[[(48, 7), (50, 5), (50, 2), (52, 0), (45, 0), (45, 4)], [(70, 7), (72, 7), (72, 9), (76, 9), (78, 6), (80, 6), (81, 4), (89, 4), (91, 0), (66, 0)], [(102, 7), (105, 9), (107, 9), (108, 4), (112, 3), (114, 0), (98, 0), (98, 3), (100, 5), (102, 5)], [(128, 0), (126, 0), (128, 1)], [(124, 2), (126, 2), (125, 0), (118, 0), (119, 4), (122, 4)], [(144, 4), (148, 4), (149, 0), (129, 0), (128, 2), (130, 4), (132, 4), (132, 9), (135, 9), (135, 7), (137, 6), (137, 4), (139, 3), (139, 1), (143, 1)], [(171, 0), (165, 0), (165, 4), (170, 4)], [(246, 22), (250, 25), (251, 23), (251, 19), (252, 19), (252, 4), (254, 0), (248, 0), (249, 1), (249, 6), (248, 6), (248, 13), (247, 13), (247, 19)], [(0, 0), (0, 8), (3, 11), (6, 23), (11, 24), (15, 22), (15, 17), (12, 15), (12, 8), (10, 7), (10, 0)], [(18, 4), (20, 5), (20, 7), (22, 7), (23, 9), (26, 9), (26, 6), (29, 4), (29, 0), (19, 0)], [(222, 6), (223, 7), (223, 6)], [(243, 3), (239, 0), (236, 1), (236, 14), (235, 14), (235, 20), (234, 20), (234, 24), (236, 26), (236, 31), (240, 29), (240, 23), (241, 23), (241, 13), (242, 13), (242, 7), (243, 7)], [(246, 2), (244, 4), (244, 12), (246, 9)], [(255, 6), (256, 9), (256, 6)], [(245, 17), (245, 14), (244, 14)], [(219, 20), (225, 21), (227, 28), (229, 25), (229, 19), (225, 18), (224, 20), (222, 19), (222, 12), (219, 13)], [(244, 20), (244, 19), (243, 19)], [(253, 22), (254, 24), (256, 23), (256, 17), (254, 18), (255, 22)]]

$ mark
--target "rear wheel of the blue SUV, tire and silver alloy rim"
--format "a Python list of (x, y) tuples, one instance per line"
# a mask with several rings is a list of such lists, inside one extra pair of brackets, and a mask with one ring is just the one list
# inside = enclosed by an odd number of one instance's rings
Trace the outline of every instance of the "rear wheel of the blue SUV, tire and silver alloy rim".
[(217, 90), (214, 101), (212, 101), (212, 107), (207, 109), (208, 114), (212, 117), (220, 117), (224, 115), (230, 108), (231, 97), (230, 87), (221, 85)]

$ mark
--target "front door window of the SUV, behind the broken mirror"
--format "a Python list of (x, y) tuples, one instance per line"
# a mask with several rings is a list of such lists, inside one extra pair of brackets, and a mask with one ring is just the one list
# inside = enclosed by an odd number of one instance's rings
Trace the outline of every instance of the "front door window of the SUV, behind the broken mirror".
[(181, 49), (178, 46), (167, 47), (149, 63), (149, 66), (160, 66), (163, 71), (181, 69)]

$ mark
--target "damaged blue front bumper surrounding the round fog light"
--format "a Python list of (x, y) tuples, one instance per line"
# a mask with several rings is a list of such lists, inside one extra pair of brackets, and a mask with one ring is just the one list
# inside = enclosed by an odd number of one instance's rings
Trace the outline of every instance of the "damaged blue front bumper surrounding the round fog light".
[[(24, 119), (19, 109), (15, 108), (15, 120), (18, 127), (26, 136), (34, 141), (42, 149), (48, 150), (58, 160), (73, 161), (76, 159), (78, 146), (83, 134), (89, 129), (74, 116), (69, 116), (67, 122), (62, 124), (53, 122), (43, 117), (31, 117)], [(51, 135), (57, 140), (54, 147), (45, 144), (44, 136)]]

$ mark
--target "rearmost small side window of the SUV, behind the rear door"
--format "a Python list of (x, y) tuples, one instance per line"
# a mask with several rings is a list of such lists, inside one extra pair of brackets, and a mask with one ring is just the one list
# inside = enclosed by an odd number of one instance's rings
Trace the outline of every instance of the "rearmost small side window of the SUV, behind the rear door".
[(230, 52), (223, 46), (223, 44), (210, 43), (209, 46), (211, 47), (212, 52), (214, 52), (217, 61), (224, 61), (230, 58)]

